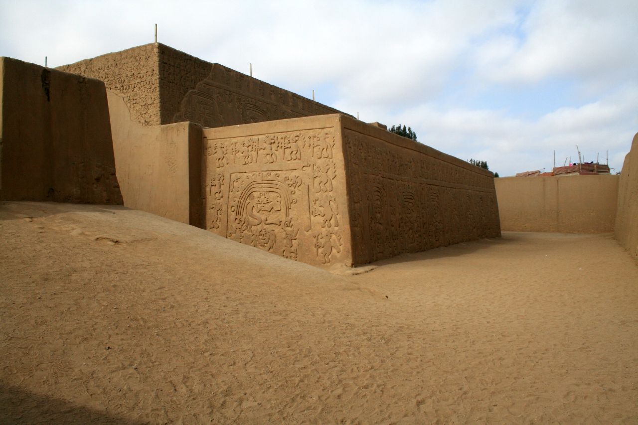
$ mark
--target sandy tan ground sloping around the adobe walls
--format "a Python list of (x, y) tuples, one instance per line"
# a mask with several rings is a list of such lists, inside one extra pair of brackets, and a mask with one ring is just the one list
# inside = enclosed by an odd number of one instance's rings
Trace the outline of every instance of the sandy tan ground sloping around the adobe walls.
[(4, 202), (0, 238), (0, 423), (638, 422), (611, 235), (356, 276), (124, 207)]

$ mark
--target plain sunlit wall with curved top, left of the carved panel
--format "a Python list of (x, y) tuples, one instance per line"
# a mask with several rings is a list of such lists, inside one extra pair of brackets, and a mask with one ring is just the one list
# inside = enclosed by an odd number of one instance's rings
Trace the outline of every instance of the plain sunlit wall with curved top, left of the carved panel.
[(202, 224), (202, 128), (194, 123), (142, 126), (108, 92), (115, 168), (124, 206)]

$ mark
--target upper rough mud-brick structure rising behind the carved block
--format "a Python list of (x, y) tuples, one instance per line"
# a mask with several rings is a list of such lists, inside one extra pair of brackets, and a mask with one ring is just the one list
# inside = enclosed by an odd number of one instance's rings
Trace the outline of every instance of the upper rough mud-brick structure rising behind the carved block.
[(57, 69), (103, 80), (144, 125), (191, 121), (220, 127), (340, 112), (161, 43)]

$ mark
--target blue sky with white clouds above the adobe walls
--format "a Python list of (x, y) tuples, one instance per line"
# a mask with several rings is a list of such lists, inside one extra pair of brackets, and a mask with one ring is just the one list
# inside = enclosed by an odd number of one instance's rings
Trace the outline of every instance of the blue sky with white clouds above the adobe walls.
[(638, 0), (0, 0), (0, 56), (54, 67), (158, 41), (501, 176), (621, 170), (638, 132)]

